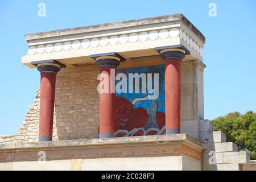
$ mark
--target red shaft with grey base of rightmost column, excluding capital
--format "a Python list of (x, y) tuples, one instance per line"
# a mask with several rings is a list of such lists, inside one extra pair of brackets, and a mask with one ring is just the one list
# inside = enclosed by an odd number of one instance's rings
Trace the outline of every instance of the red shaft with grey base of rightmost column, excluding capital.
[(181, 59), (164, 60), (166, 95), (166, 134), (180, 133)]

